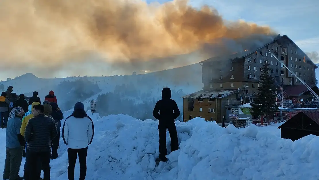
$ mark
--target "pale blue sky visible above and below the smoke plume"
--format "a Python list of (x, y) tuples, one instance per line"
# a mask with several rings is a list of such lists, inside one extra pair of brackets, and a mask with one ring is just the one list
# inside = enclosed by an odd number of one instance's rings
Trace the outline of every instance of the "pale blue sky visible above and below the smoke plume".
[[(145, 0), (147, 3), (165, 3), (165, 0)], [(209, 5), (214, 7), (225, 20), (244, 20), (254, 22), (258, 25), (270, 26), (281, 35), (288, 35), (297, 45), (305, 52), (317, 51), (319, 52), (319, 1), (315, 0), (189, 0), (189, 4), (194, 7), (201, 7), (202, 5)], [(289, 2), (289, 3), (288, 3)], [(76, 68), (78, 71), (92, 68), (101, 76), (103, 72), (109, 71), (105, 66), (95, 65), (99, 62), (88, 62), (87, 65), (78, 67), (61, 67), (60, 72), (55, 74), (56, 77), (66, 77), (71, 75), (71, 69)], [(63, 65), (61, 65), (63, 66)], [(167, 67), (169, 68), (169, 67)], [(25, 72), (37, 75), (37, 72)], [(85, 74), (85, 75), (97, 75)], [(102, 73), (102, 74), (101, 74)], [(42, 72), (43, 74), (43, 72)], [(5, 80), (8, 76), (14, 78), (22, 75), (21, 72), (15, 73), (1, 73), (0, 80)], [(107, 75), (107, 74), (104, 74)], [(54, 78), (54, 77), (53, 77)]]

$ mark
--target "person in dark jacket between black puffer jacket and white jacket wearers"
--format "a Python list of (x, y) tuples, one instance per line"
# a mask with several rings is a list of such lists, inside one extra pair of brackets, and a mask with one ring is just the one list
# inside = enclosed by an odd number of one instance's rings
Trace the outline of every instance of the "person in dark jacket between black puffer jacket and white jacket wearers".
[(51, 154), (51, 159), (56, 159), (58, 157), (58, 148), (60, 144), (60, 132), (61, 132), (61, 121), (63, 120), (63, 113), (61, 112), (58, 104), (55, 102), (50, 103), (52, 107), (52, 113), (50, 115), (54, 119), (54, 123), (56, 124), (56, 130), (58, 135), (52, 140), (51, 146), (52, 146), (52, 154)]

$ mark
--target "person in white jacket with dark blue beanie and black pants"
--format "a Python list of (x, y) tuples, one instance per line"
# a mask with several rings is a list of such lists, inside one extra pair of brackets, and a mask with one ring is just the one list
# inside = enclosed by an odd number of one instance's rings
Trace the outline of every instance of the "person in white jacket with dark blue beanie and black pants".
[(74, 180), (74, 168), (79, 156), (80, 177), (85, 180), (87, 147), (92, 143), (94, 125), (92, 119), (86, 114), (84, 105), (77, 102), (73, 113), (63, 123), (62, 138), (64, 144), (68, 145), (69, 167), (68, 179)]

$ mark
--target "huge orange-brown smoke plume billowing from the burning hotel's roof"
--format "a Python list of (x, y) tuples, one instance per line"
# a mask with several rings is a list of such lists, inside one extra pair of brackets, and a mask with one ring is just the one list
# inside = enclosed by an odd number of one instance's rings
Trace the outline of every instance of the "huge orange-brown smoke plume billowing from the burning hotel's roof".
[(41, 75), (61, 68), (78, 73), (92, 63), (128, 74), (179, 67), (277, 35), (269, 27), (227, 22), (215, 9), (185, 0), (3, 0), (0, 22), (0, 70), (22, 64)]

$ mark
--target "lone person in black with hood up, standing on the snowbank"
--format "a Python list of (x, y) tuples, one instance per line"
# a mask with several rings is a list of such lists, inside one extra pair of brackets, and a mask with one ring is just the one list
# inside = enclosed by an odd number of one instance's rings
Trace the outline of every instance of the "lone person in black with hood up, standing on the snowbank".
[(178, 138), (174, 120), (181, 112), (176, 102), (171, 99), (171, 95), (171, 89), (163, 88), (162, 99), (157, 101), (153, 110), (153, 116), (159, 120), (159, 158), (156, 158), (156, 161), (167, 161), (166, 129), (168, 129), (171, 137), (171, 151), (178, 150)]

